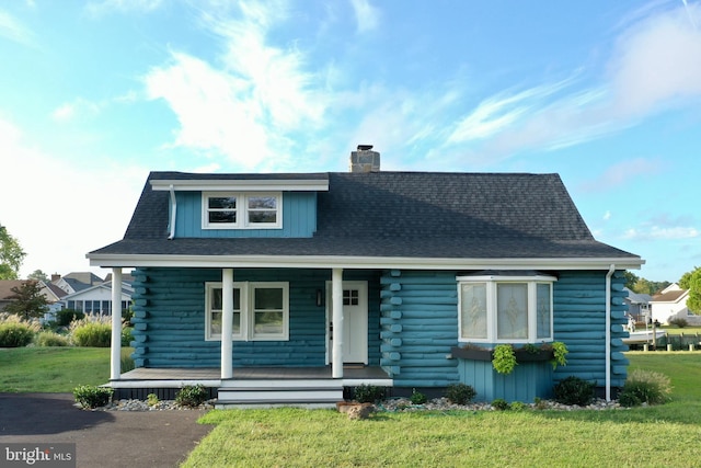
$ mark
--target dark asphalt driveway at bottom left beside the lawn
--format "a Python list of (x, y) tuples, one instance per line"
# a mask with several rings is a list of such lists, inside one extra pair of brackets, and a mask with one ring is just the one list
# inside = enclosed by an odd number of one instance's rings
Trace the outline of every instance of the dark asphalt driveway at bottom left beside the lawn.
[(212, 429), (204, 410), (85, 411), (70, 393), (0, 393), (0, 443), (74, 443), (78, 467), (176, 467)]

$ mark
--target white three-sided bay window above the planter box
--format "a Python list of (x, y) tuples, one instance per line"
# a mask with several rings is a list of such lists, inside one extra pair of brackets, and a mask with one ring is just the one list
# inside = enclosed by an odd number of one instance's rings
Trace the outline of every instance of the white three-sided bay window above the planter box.
[(458, 276), (459, 339), (484, 343), (552, 341), (553, 276)]

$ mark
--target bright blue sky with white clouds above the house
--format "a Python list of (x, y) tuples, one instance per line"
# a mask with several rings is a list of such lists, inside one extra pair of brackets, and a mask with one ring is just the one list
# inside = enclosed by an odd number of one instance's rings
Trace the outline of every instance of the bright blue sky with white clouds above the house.
[[(150, 170), (560, 173), (594, 236), (701, 265), (701, 1), (0, 3), (0, 222), (90, 270)], [(95, 270), (103, 275), (106, 271)]]

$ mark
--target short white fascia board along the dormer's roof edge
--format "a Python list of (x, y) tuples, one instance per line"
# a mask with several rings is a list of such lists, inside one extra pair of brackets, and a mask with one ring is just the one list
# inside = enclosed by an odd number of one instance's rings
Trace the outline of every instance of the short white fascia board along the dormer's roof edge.
[(329, 192), (329, 180), (159, 180), (150, 181), (154, 191), (203, 192), (203, 191), (246, 191), (246, 192)]

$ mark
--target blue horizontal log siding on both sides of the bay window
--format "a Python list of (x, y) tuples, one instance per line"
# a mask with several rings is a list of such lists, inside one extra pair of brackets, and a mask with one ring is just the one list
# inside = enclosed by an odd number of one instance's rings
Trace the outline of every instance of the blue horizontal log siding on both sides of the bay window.
[[(538, 369), (542, 378), (552, 378), (550, 385), (575, 375), (604, 387), (606, 273), (558, 274), (553, 286), (553, 333), (555, 341), (567, 345), (570, 354), (567, 365), (554, 373)], [(456, 276), (457, 272), (398, 270), (382, 274), (380, 363), (395, 387), (446, 387), (460, 381), (460, 359), (448, 358), (450, 349), (459, 345)], [(627, 377), (623, 286), (623, 272), (616, 272), (611, 278), (612, 387), (621, 387)]]

